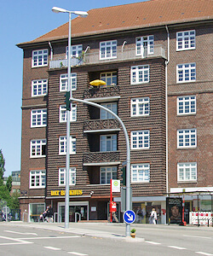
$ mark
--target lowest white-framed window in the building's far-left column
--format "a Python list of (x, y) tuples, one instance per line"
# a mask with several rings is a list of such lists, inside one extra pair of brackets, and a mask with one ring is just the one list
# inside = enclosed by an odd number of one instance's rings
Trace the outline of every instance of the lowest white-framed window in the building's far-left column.
[(42, 189), (46, 186), (46, 171), (30, 172), (30, 189)]

